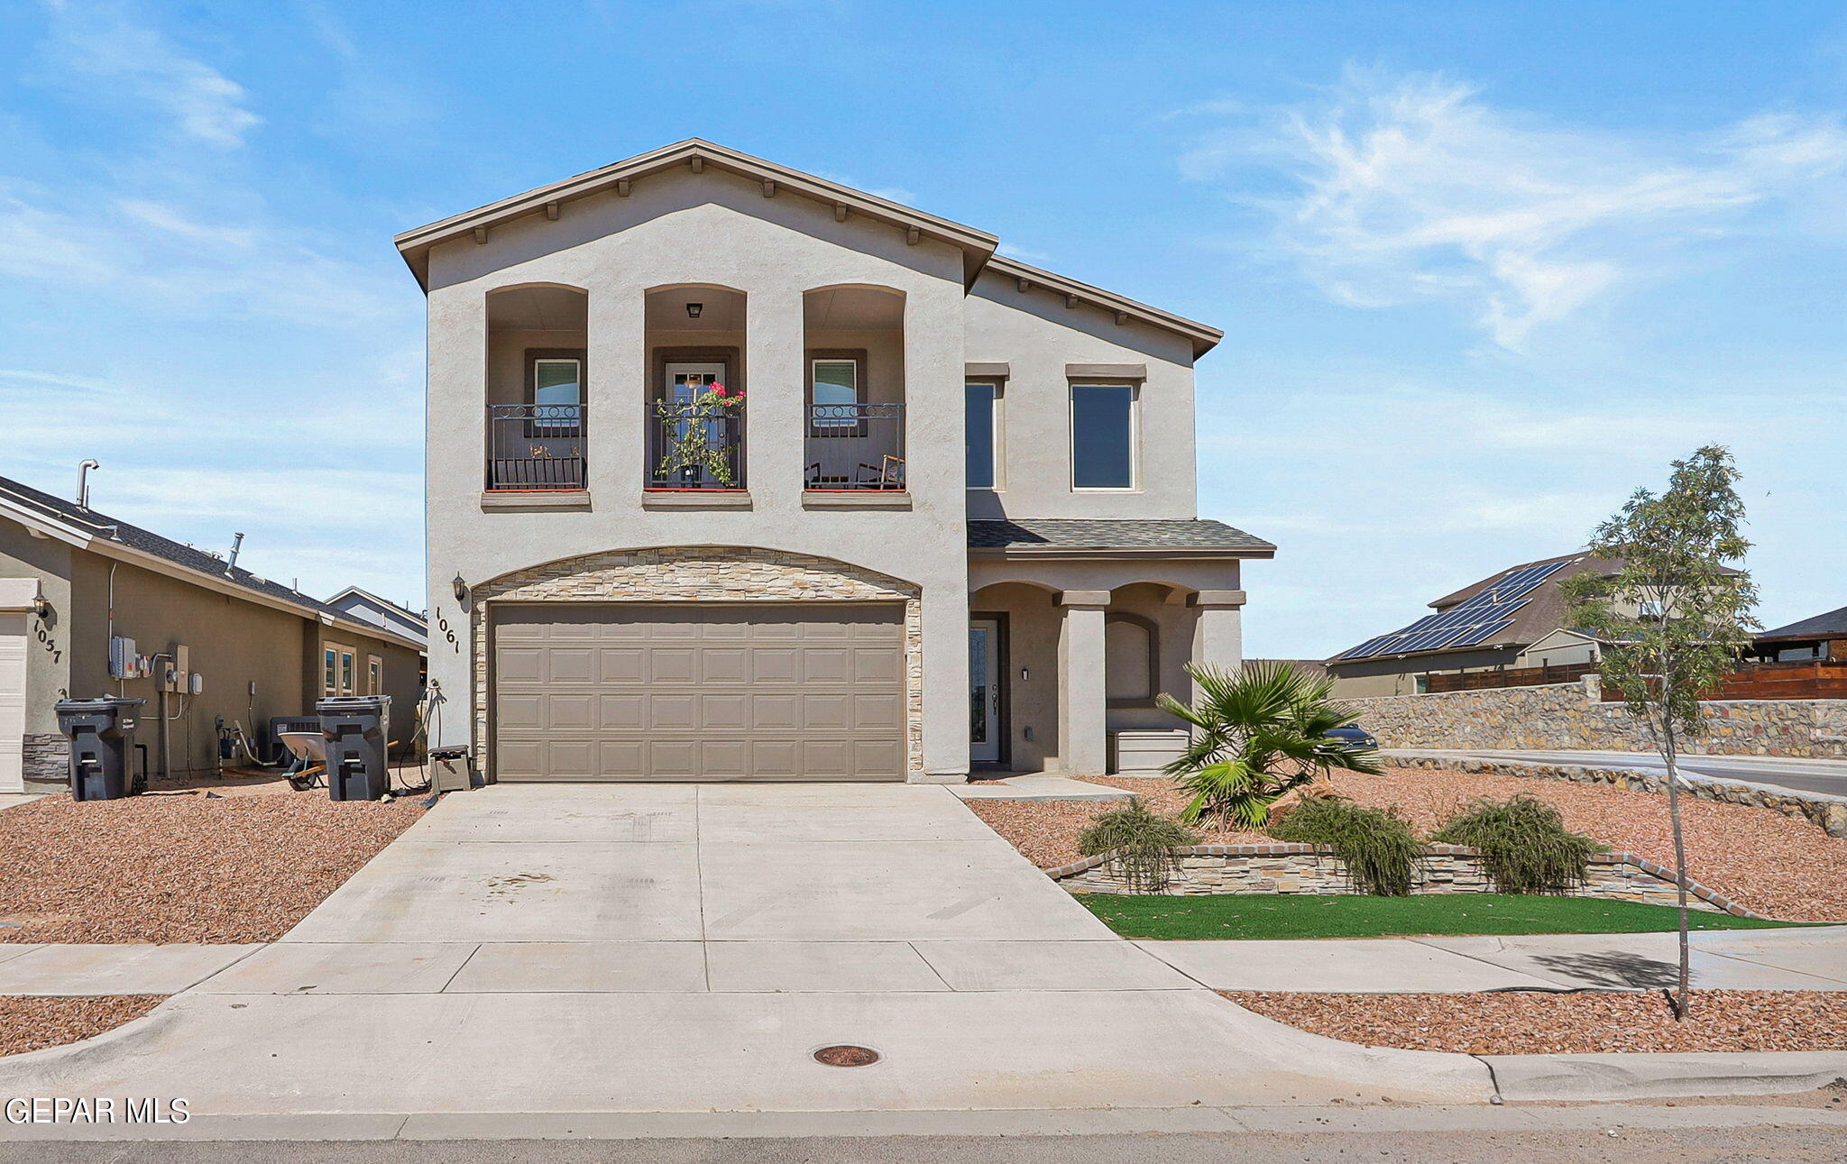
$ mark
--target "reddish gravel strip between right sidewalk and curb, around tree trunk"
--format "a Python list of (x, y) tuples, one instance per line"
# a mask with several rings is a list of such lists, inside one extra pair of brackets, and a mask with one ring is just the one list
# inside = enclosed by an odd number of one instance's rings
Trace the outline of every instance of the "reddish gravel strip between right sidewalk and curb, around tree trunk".
[(1376, 1048), (1468, 1055), (1840, 1051), (1847, 996), (1696, 990), (1675, 1022), (1662, 994), (1284, 994), (1221, 990), (1247, 1011)]

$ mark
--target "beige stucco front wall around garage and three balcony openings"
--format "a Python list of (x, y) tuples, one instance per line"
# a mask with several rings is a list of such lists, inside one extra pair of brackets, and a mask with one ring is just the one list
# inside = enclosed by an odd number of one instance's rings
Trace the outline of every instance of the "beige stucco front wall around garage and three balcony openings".
[[(484, 512), (480, 504), (486, 296), (556, 283), (589, 292), (589, 510)], [(643, 508), (643, 401), (652, 358), (645, 296), (715, 285), (746, 297), (748, 510)], [(905, 299), (909, 510), (803, 506), (807, 370), (803, 290), (885, 286)], [(453, 593), (545, 562), (646, 547), (763, 547), (833, 558), (916, 586), (924, 639), (924, 767), (968, 770), (966, 530), (962, 488), (962, 255), (820, 203), (763, 198), (707, 172), (658, 176), (495, 227), (486, 246), (430, 253), (429, 571), (430, 674), (465, 706), (473, 630)], [(449, 641), (449, 634), (456, 641)], [(467, 743), (447, 717), (445, 743)]]

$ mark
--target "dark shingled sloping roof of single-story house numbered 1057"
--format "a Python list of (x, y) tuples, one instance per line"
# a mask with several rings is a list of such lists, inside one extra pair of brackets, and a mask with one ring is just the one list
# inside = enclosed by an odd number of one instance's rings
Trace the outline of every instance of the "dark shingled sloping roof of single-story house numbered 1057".
[(305, 617), (316, 617), (323, 623), (338, 621), (373, 634), (382, 632), (388, 637), (403, 641), (404, 647), (423, 649), (423, 645), (416, 639), (410, 639), (408, 636), (388, 626), (362, 623), (342, 610), (327, 606), (320, 599), (301, 593), (299, 589), (283, 586), (281, 582), (272, 582), (270, 578), (253, 575), (244, 567), (227, 565), (218, 554), (201, 551), (183, 541), (174, 541), (172, 538), (163, 538), (153, 530), (146, 530), (118, 517), (87, 510), (74, 501), (65, 501), (63, 497), (35, 490), (30, 484), (9, 477), (0, 477), (0, 517), (15, 517), (30, 528), (63, 534), (65, 541), (72, 541), (83, 549), (92, 549), (126, 560), (140, 558), (144, 564), (166, 567), (163, 573), (207, 586), (211, 589), (242, 593), (244, 597), (260, 600), (266, 606), (294, 608)]

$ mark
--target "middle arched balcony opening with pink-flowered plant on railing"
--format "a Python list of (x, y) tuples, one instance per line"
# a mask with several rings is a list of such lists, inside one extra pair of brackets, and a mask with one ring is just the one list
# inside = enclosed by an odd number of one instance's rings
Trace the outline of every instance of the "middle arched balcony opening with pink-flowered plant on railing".
[(646, 296), (643, 488), (742, 490), (746, 416), (744, 292), (656, 286)]

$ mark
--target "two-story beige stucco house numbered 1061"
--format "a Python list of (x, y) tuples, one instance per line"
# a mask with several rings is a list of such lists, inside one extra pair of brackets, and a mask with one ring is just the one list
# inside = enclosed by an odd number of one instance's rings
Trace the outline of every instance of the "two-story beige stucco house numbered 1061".
[(1219, 333), (996, 242), (700, 140), (401, 235), (438, 743), (499, 780), (957, 782), (1173, 726), (1274, 552), (1195, 512)]

